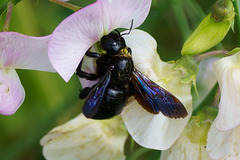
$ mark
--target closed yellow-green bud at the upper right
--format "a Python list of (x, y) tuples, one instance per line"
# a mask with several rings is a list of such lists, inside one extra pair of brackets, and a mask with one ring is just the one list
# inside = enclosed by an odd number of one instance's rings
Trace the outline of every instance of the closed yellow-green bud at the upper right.
[[(225, 7), (222, 7), (219, 3), (224, 4)], [(213, 10), (214, 12), (209, 13), (202, 20), (183, 44), (182, 55), (197, 55), (203, 53), (221, 42), (226, 36), (234, 23), (235, 14), (231, 0), (216, 2)]]

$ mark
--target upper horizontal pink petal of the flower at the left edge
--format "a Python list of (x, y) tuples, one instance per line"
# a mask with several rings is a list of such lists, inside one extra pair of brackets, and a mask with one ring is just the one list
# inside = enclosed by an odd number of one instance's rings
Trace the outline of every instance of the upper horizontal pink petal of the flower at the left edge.
[(49, 39), (0, 32), (0, 67), (54, 72), (47, 54)]

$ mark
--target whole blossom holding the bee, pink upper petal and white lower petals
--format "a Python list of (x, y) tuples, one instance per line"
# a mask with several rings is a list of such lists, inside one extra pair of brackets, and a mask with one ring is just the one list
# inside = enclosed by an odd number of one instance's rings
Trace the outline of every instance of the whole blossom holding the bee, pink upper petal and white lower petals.
[[(117, 28), (138, 27), (145, 20), (151, 0), (98, 0), (66, 18), (53, 32), (49, 42), (49, 58), (53, 67), (68, 81), (76, 71), (86, 51), (102, 36)], [(118, 6), (118, 7), (116, 7)], [(182, 71), (174, 64), (163, 62), (156, 41), (146, 32), (132, 30), (124, 35), (132, 50), (134, 66), (144, 75), (174, 94), (185, 106), (188, 116), (171, 119), (159, 113), (153, 115), (129, 98), (122, 111), (124, 124), (132, 138), (140, 145), (153, 149), (167, 149), (178, 138), (192, 112), (191, 84), (181, 81)], [(94, 47), (92, 47), (94, 48)], [(89, 60), (86, 63), (86, 60)], [(94, 72), (94, 62), (84, 58), (82, 69)], [(83, 87), (94, 82), (80, 79)]]

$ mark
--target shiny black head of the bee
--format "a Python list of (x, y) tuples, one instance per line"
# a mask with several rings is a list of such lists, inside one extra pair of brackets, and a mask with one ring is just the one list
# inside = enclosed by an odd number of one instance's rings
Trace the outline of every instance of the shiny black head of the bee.
[(118, 33), (109, 33), (100, 40), (103, 50), (107, 53), (116, 54), (118, 51), (126, 47), (124, 38)]

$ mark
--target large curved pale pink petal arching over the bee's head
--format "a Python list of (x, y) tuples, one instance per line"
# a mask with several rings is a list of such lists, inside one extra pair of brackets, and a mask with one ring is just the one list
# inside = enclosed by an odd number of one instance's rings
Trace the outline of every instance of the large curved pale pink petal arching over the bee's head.
[(151, 0), (99, 0), (66, 18), (53, 32), (49, 58), (65, 81), (75, 72), (86, 51), (113, 29), (139, 26)]

